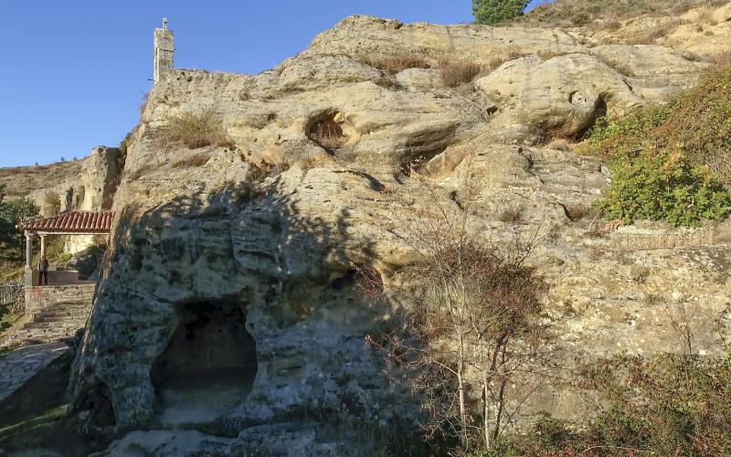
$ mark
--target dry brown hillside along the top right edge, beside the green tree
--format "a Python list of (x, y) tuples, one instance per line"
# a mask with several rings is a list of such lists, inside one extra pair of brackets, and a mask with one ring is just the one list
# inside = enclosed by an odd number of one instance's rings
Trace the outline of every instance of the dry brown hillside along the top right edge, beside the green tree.
[(726, 3), (726, 0), (556, 0), (506, 25), (581, 27), (598, 19), (621, 21), (640, 16), (676, 16), (693, 8)]

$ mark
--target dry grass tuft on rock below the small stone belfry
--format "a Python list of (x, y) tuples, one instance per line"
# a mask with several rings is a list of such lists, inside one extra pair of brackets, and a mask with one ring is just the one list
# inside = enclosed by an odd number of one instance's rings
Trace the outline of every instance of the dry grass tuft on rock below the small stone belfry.
[(223, 146), (230, 142), (223, 122), (215, 112), (184, 112), (170, 118), (158, 132), (161, 146), (183, 143), (190, 149), (205, 146)]

